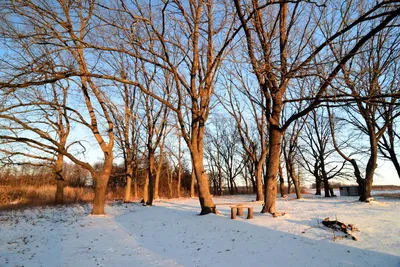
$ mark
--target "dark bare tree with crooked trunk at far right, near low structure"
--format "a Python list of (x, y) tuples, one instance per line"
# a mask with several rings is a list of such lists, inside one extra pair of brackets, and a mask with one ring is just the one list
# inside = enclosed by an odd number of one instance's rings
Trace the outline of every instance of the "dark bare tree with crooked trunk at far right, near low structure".
[[(393, 92), (398, 91), (399, 84), (392, 77), (393, 62), (399, 59), (399, 31), (387, 28), (372, 37), (365, 51), (354, 56), (346, 65), (342, 65), (342, 80), (338, 81), (341, 90), (355, 98), (354, 104), (343, 106), (346, 111), (346, 121), (367, 136), (368, 162), (365, 177), (357, 177), (360, 188), (360, 201), (371, 198), (374, 173), (377, 168), (378, 144), (392, 121), (400, 115), (396, 108), (391, 115), (385, 116), (379, 109), (382, 105), (393, 109), (396, 98), (390, 100)], [(339, 57), (345, 46), (333, 47)], [(363, 100), (363, 98), (367, 100)], [(374, 99), (370, 101), (369, 99)], [(381, 112), (380, 112), (381, 111)]]

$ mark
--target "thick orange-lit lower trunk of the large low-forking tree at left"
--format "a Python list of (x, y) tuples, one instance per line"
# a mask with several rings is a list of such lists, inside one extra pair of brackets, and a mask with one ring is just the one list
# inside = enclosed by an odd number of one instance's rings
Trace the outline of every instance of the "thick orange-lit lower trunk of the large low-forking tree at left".
[(112, 163), (113, 163), (112, 153), (108, 152), (108, 155), (106, 155), (104, 159), (103, 169), (95, 177), (93, 177), (95, 179), (96, 185), (94, 188), (92, 215), (104, 214), (107, 185), (112, 171)]

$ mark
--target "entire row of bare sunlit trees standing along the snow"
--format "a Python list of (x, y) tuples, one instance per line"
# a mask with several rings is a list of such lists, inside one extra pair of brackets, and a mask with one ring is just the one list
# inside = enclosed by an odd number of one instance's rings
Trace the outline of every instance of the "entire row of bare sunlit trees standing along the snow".
[[(397, 1), (15, 0), (0, 7), (2, 152), (51, 162), (60, 188), (65, 158), (86, 169), (95, 181), (92, 214), (104, 213), (116, 157), (129, 197), (140, 142), (148, 160), (144, 201), (152, 204), (156, 151), (164, 155), (172, 129), (177, 161), (181, 142), (190, 154), (200, 214), (216, 212), (204, 156), (209, 117), (221, 107), (234, 118), (231, 141), (240, 139), (246, 155), (226, 151), (223, 160), (251, 166), (263, 212), (277, 213), (281, 158), (299, 194), (299, 133), (324, 133), (318, 119), (353, 166), (360, 200), (370, 197), (379, 149), (395, 155)], [(365, 170), (343, 149), (338, 121), (365, 133)], [(91, 138), (74, 134), (82, 128)], [(100, 168), (82, 156), (89, 140), (102, 152)], [(325, 138), (315, 140), (307, 151), (317, 160), (304, 166), (325, 182), (340, 171), (327, 169)], [(237, 173), (227, 170), (234, 188)]]

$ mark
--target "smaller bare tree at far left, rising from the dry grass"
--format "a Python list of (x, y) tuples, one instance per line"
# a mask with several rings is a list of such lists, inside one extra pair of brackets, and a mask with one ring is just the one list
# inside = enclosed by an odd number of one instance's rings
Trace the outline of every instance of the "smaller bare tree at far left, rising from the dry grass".
[(68, 150), (77, 143), (67, 143), (71, 130), (67, 107), (69, 87), (69, 83), (58, 82), (48, 87), (28, 88), (29, 92), (20, 89), (1, 95), (4, 102), (0, 108), (0, 152), (7, 155), (2, 162), (50, 166), (57, 185), (56, 204), (62, 204), (64, 198), (64, 155), (49, 145)]

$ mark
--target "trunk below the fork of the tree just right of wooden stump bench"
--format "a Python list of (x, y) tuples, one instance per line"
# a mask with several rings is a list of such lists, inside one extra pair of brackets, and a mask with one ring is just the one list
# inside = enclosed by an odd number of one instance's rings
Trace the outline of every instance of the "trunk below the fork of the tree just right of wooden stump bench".
[[(279, 121), (279, 120), (277, 120)], [(262, 213), (276, 213), (276, 177), (279, 172), (280, 150), (281, 150), (281, 131), (275, 125), (270, 126), (269, 130), (269, 155), (267, 160), (267, 173), (264, 176), (264, 207)]]

